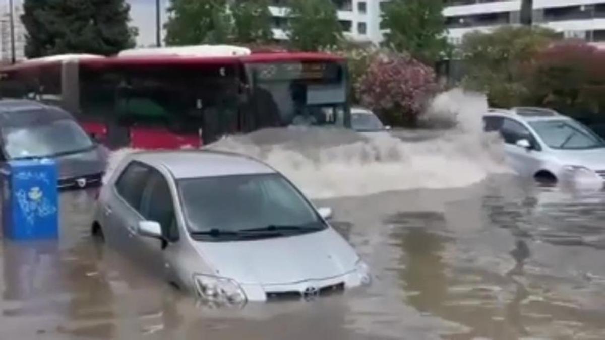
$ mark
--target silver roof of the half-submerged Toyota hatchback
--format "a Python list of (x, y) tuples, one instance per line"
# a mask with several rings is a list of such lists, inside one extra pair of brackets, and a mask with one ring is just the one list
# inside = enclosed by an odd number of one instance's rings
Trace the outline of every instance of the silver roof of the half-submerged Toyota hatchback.
[(164, 167), (175, 179), (276, 173), (275, 169), (258, 160), (229, 152), (142, 151), (135, 152), (131, 158), (154, 168)]

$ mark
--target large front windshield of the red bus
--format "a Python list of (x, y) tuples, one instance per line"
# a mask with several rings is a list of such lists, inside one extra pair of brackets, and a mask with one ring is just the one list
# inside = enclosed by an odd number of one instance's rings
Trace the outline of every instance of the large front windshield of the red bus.
[(290, 125), (344, 127), (346, 87), (336, 62), (248, 64), (249, 113), (256, 128)]

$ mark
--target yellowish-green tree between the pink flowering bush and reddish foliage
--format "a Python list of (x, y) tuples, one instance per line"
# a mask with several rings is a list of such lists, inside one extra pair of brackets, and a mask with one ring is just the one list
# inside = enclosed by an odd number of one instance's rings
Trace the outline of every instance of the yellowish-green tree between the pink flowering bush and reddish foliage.
[(531, 96), (536, 57), (556, 37), (554, 31), (529, 26), (466, 34), (461, 47), (466, 70), (463, 86), (486, 93), (494, 106), (522, 105)]

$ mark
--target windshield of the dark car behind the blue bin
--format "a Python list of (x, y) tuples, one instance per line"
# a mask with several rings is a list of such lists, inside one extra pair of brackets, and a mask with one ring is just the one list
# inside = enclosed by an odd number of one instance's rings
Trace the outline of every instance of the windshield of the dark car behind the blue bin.
[(52, 157), (92, 148), (93, 141), (71, 119), (44, 124), (2, 127), (4, 151), (10, 159)]

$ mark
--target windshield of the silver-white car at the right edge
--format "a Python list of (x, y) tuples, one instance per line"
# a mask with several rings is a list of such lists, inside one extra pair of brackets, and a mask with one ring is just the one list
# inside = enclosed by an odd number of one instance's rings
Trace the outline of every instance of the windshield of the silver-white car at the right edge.
[(530, 122), (546, 145), (554, 149), (603, 148), (605, 143), (590, 129), (574, 120)]

